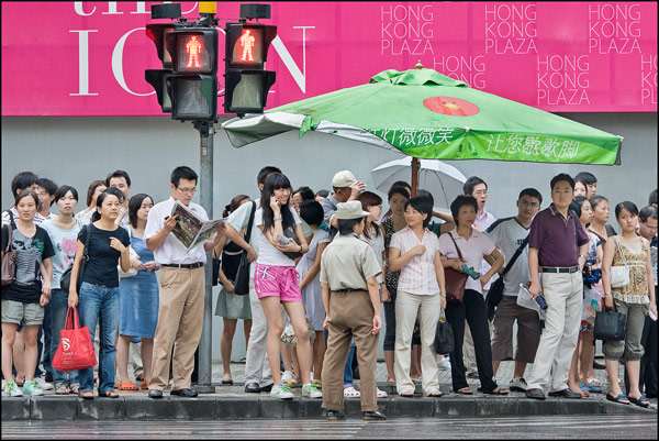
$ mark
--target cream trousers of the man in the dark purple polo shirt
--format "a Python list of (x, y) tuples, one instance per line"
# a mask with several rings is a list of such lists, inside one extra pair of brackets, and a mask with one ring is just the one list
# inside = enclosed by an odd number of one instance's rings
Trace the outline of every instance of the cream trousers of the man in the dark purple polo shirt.
[(568, 388), (568, 374), (577, 348), (583, 307), (581, 273), (543, 273), (543, 297), (547, 301), (545, 330), (536, 352), (528, 388), (539, 388), (549, 382), (549, 392)]

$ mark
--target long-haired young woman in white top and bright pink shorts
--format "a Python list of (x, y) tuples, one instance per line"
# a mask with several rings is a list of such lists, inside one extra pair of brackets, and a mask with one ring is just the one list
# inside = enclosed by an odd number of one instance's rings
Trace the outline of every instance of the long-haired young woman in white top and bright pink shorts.
[[(260, 208), (254, 214), (259, 250), (254, 287), (268, 320), (267, 352), (275, 382), (270, 396), (282, 399), (293, 398), (290, 388), (281, 383), (279, 371), (279, 341), (283, 331), (281, 304), (291, 318), (298, 340), (298, 357), (303, 384), (302, 396), (321, 398), (323, 394), (317, 390), (315, 384), (310, 382), (311, 344), (304, 318), (302, 294), (298, 285), (300, 276), (293, 261), (297, 255), (306, 253), (309, 245), (304, 240), (300, 217), (295, 210), (289, 207), (291, 190), (291, 183), (280, 173), (273, 173), (266, 179)], [(294, 238), (301, 245), (287, 236)]]

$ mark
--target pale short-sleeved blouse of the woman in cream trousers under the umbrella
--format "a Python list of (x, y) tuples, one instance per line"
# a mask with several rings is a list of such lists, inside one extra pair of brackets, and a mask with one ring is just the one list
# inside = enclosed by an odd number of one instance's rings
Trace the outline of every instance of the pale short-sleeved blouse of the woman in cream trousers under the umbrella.
[(426, 251), (420, 256), (412, 257), (407, 265), (403, 266), (398, 289), (422, 296), (439, 294), (434, 263), (439, 246), (435, 233), (426, 228), (423, 240), (420, 241), (414, 231), (410, 227), (405, 227), (391, 236), (389, 246), (400, 250), (401, 255), (403, 255), (416, 245), (424, 245)]

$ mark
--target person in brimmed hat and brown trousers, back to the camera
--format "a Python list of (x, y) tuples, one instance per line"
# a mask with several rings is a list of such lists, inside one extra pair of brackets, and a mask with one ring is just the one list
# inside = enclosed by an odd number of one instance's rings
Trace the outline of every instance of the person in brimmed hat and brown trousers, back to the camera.
[(328, 332), (323, 363), (322, 407), (327, 410), (328, 420), (345, 418), (343, 374), (350, 340), (354, 339), (361, 374), (362, 419), (384, 420), (387, 417), (378, 411), (376, 396), (378, 332), (382, 328), (376, 276), (382, 268), (370, 245), (359, 239), (369, 212), (364, 211), (361, 202), (356, 200), (338, 202), (336, 207), (333, 216), (339, 235), (327, 245), (321, 257), (321, 287), (326, 313), (323, 326)]

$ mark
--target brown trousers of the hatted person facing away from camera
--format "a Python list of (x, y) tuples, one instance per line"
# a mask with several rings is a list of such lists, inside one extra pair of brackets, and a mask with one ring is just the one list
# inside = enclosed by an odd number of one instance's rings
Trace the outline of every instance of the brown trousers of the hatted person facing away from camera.
[[(350, 341), (355, 339), (359, 361), (361, 411), (377, 411), (376, 360), (378, 335), (368, 291), (331, 293), (327, 351), (323, 362), (323, 408), (344, 409), (343, 378)], [(407, 356), (409, 359), (410, 356)]]

